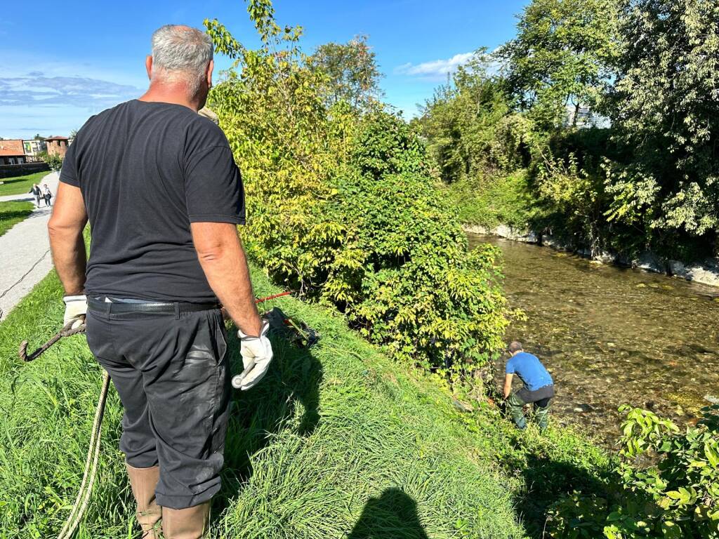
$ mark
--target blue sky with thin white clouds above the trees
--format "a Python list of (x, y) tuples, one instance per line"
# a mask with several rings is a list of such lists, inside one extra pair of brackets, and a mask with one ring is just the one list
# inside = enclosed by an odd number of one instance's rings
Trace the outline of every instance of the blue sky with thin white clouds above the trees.
[[(275, 0), (279, 24), (305, 29), (303, 49), (367, 34), (385, 75), (385, 101), (416, 114), (446, 73), (478, 47), (515, 33), (526, 0)], [(0, 18), (0, 137), (68, 134), (147, 86), (150, 34), (162, 24), (217, 18), (257, 44), (241, 0), (4, 2)], [(31, 7), (32, 6), (32, 7)], [(229, 65), (216, 58), (219, 68)]]

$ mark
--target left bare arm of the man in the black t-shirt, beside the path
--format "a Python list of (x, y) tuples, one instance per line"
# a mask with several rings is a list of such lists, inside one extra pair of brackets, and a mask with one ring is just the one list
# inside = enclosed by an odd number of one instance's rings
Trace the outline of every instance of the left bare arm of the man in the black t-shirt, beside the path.
[(85, 290), (87, 257), (83, 229), (88, 222), (83, 195), (66, 183), (58, 186), (58, 196), (47, 223), (52, 262), (65, 295), (81, 295)]

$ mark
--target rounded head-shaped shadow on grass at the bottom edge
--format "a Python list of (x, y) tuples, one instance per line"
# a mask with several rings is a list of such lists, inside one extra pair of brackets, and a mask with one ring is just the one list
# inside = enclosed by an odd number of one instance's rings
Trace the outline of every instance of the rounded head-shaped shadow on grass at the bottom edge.
[(402, 489), (385, 489), (370, 498), (347, 539), (428, 539), (417, 503)]

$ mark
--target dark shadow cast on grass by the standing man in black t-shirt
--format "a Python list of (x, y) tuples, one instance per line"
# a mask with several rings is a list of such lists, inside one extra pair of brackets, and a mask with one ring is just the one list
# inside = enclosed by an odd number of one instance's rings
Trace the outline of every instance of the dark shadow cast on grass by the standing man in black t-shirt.
[[(290, 344), (279, 335), (271, 335), (270, 341), (273, 361), (265, 377), (251, 390), (232, 390), (223, 489), (216, 497), (217, 510), (237, 497), (242, 484), (252, 476), (250, 456), (267, 446), (274, 435), (290, 430), (298, 436), (309, 436), (319, 422), (322, 365), (313, 349)], [(228, 331), (228, 349), (232, 372), (242, 372), (237, 330)], [(299, 418), (298, 407), (302, 410)]]

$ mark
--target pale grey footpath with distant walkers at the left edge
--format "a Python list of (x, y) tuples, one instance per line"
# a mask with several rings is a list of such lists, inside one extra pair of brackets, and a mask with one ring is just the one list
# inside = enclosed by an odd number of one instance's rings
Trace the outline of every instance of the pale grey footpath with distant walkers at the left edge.
[[(40, 185), (45, 183), (55, 195), (58, 172), (50, 172), (40, 180)], [(0, 197), (0, 202), (5, 201), (35, 203), (35, 198), (29, 193)], [(47, 221), (52, 207), (45, 208), (42, 204), (27, 219), (0, 236), (0, 320), (4, 320), (27, 292), (52, 270), (50, 241), (47, 239)]]

